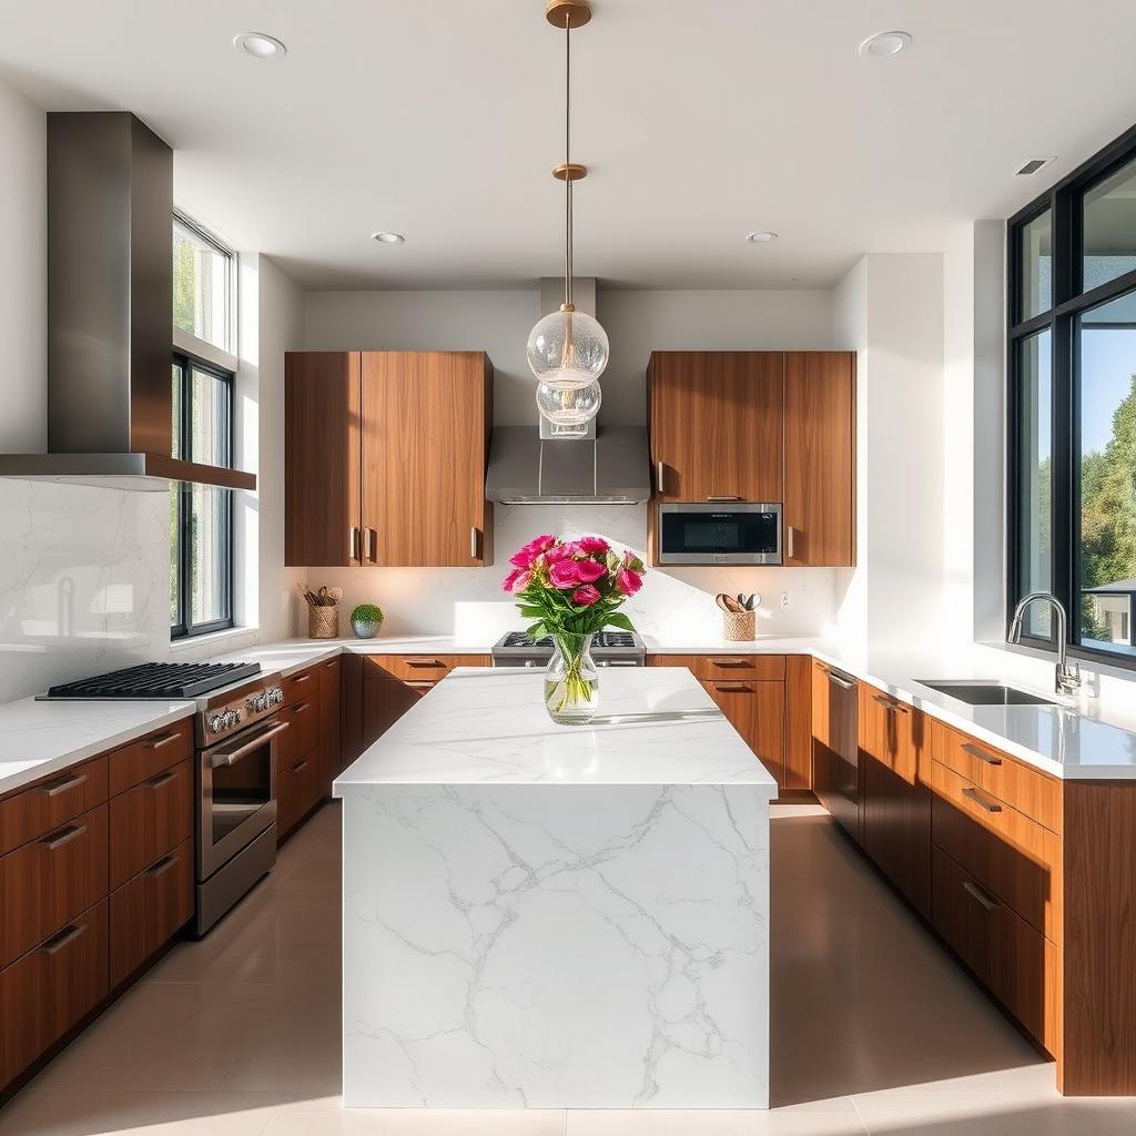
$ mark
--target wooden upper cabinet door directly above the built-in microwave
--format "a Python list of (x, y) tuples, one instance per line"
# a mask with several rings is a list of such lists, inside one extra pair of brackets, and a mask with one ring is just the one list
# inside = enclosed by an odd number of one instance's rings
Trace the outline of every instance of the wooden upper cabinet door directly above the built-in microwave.
[(652, 353), (657, 500), (782, 500), (782, 373), (780, 351)]

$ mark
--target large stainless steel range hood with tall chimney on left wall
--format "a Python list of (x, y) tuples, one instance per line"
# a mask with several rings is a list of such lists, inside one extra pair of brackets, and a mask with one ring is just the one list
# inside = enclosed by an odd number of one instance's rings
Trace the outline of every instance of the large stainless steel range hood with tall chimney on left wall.
[(48, 453), (0, 454), (0, 476), (256, 488), (170, 457), (173, 184), (133, 115), (48, 115)]

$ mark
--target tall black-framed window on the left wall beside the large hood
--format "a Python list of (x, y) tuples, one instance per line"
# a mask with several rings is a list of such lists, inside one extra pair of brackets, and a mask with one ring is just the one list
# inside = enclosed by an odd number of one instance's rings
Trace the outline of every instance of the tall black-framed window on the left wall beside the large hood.
[[(182, 214), (173, 258), (173, 456), (231, 467), (234, 373), (218, 359), (234, 351), (236, 258)], [(233, 491), (177, 484), (169, 493), (170, 637), (232, 627)]]

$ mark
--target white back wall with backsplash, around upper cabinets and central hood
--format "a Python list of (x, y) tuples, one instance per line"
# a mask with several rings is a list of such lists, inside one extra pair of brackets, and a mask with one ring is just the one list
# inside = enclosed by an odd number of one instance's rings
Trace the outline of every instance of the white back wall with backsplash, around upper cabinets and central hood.
[[(484, 348), (496, 368), (498, 424), (535, 425), (533, 378), (525, 342), (540, 311), (538, 287), (482, 292), (317, 292), (306, 300), (310, 350), (376, 348), (427, 350)], [(611, 343), (603, 376), (603, 418), (645, 424), (646, 364), (652, 349), (746, 350), (830, 348), (833, 294), (816, 291), (607, 291), (596, 315)], [(496, 562), (490, 568), (312, 569), (291, 574), (344, 590), (344, 609), (365, 600), (387, 612), (394, 634), (495, 637), (515, 628), (517, 615), (500, 582), (511, 552), (541, 532), (599, 533), (640, 552), (646, 545), (646, 507), (498, 507)], [(663, 623), (671, 634), (709, 640), (720, 628), (719, 591), (758, 592), (762, 634), (816, 634), (835, 619), (835, 575), (829, 569), (667, 569), (655, 571), (628, 608), (642, 630)], [(790, 604), (780, 607), (780, 592)], [(296, 612), (298, 620), (303, 612)], [(298, 633), (303, 625), (298, 621)], [(345, 626), (344, 626), (345, 630)]]

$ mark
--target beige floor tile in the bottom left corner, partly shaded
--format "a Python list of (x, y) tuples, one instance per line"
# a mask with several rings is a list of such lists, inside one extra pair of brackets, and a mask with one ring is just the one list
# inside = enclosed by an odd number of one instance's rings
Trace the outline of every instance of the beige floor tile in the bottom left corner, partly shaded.
[(277, 1106), (264, 1094), (28, 1089), (0, 1110), (0, 1136), (260, 1136)]

